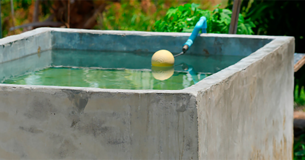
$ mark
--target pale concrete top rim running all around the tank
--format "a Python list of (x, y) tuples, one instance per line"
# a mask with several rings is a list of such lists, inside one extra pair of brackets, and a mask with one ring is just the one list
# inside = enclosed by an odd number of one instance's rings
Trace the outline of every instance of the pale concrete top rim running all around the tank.
[[(87, 29), (71, 29), (71, 28), (52, 28), (52, 27), (41, 27), (34, 30), (30, 30), (21, 34), (8, 36), (0, 39), (0, 46), (5, 46), (14, 41), (26, 39), (27, 37), (43, 34), (45, 32), (69, 32), (69, 33), (83, 33), (83, 34), (119, 34), (119, 35), (143, 35), (143, 36), (174, 36), (180, 37), (190, 36), (191, 33), (178, 33), (178, 32), (147, 32), (147, 31), (120, 31), (120, 30), (87, 30)], [(211, 85), (221, 83), (228, 76), (245, 69), (247, 66), (255, 61), (258, 61), (264, 56), (273, 52), (276, 48), (281, 47), (286, 41), (294, 40), (294, 37), (290, 36), (264, 36), (264, 35), (242, 35), (242, 34), (200, 34), (200, 37), (220, 37), (220, 38), (257, 38), (257, 39), (271, 39), (272, 41), (251, 53), (249, 56), (243, 58), (239, 62), (218, 71), (217, 73), (200, 80), (197, 84), (187, 87), (182, 90), (125, 90), (125, 89), (102, 89), (102, 88), (89, 88), (89, 87), (60, 87), (60, 86), (31, 86), (31, 85), (13, 85), (13, 84), (0, 84), (0, 87), (24, 87), (24, 88), (56, 88), (56, 89), (71, 89), (71, 90), (83, 90), (83, 91), (99, 91), (99, 92), (116, 92), (116, 93), (173, 93), (173, 94), (193, 94), (197, 95), (199, 91), (204, 91)], [(51, 40), (50, 40), (51, 41)], [(267, 50), (273, 48), (272, 50)], [(267, 50), (267, 51), (266, 51)], [(260, 54), (259, 54), (260, 53)], [(244, 62), (245, 61), (245, 62)], [(237, 66), (244, 67), (237, 67)]]

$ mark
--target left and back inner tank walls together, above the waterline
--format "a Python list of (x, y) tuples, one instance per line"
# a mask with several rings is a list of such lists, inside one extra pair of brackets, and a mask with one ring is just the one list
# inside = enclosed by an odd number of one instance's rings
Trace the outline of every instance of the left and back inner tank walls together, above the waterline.
[[(82, 31), (38, 28), (3, 38), (0, 40), (0, 53), (3, 53), (0, 54), (0, 63), (49, 49), (152, 53), (166, 49), (179, 53), (181, 46), (190, 36), (190, 33)], [(9, 43), (7, 43), (8, 41)], [(188, 53), (248, 56), (271, 41), (271, 38), (221, 37), (219, 34), (201, 34), (196, 38)]]

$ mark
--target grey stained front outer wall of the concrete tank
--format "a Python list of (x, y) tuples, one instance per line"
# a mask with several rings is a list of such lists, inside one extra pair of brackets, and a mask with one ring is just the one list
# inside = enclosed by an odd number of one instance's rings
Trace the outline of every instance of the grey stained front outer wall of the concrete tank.
[(192, 94), (0, 87), (2, 159), (197, 159)]

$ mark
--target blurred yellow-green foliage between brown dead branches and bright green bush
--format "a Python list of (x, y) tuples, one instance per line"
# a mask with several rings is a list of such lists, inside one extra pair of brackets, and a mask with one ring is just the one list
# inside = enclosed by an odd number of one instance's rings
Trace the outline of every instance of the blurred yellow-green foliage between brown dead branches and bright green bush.
[(141, 1), (110, 2), (109, 7), (98, 17), (98, 26), (102, 30), (137, 30), (151, 31), (156, 19), (160, 19), (170, 6), (177, 6), (176, 1), (147, 1), (150, 7), (145, 7)]

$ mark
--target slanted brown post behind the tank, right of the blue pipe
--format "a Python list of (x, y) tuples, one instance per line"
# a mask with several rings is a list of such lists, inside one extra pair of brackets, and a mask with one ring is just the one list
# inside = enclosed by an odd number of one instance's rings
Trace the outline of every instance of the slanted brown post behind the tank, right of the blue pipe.
[(240, 5), (241, 4), (242, 4), (242, 0), (234, 0), (233, 1), (233, 8), (232, 8), (232, 16), (231, 16), (229, 34), (236, 34), (237, 33), (238, 16), (239, 16)]

